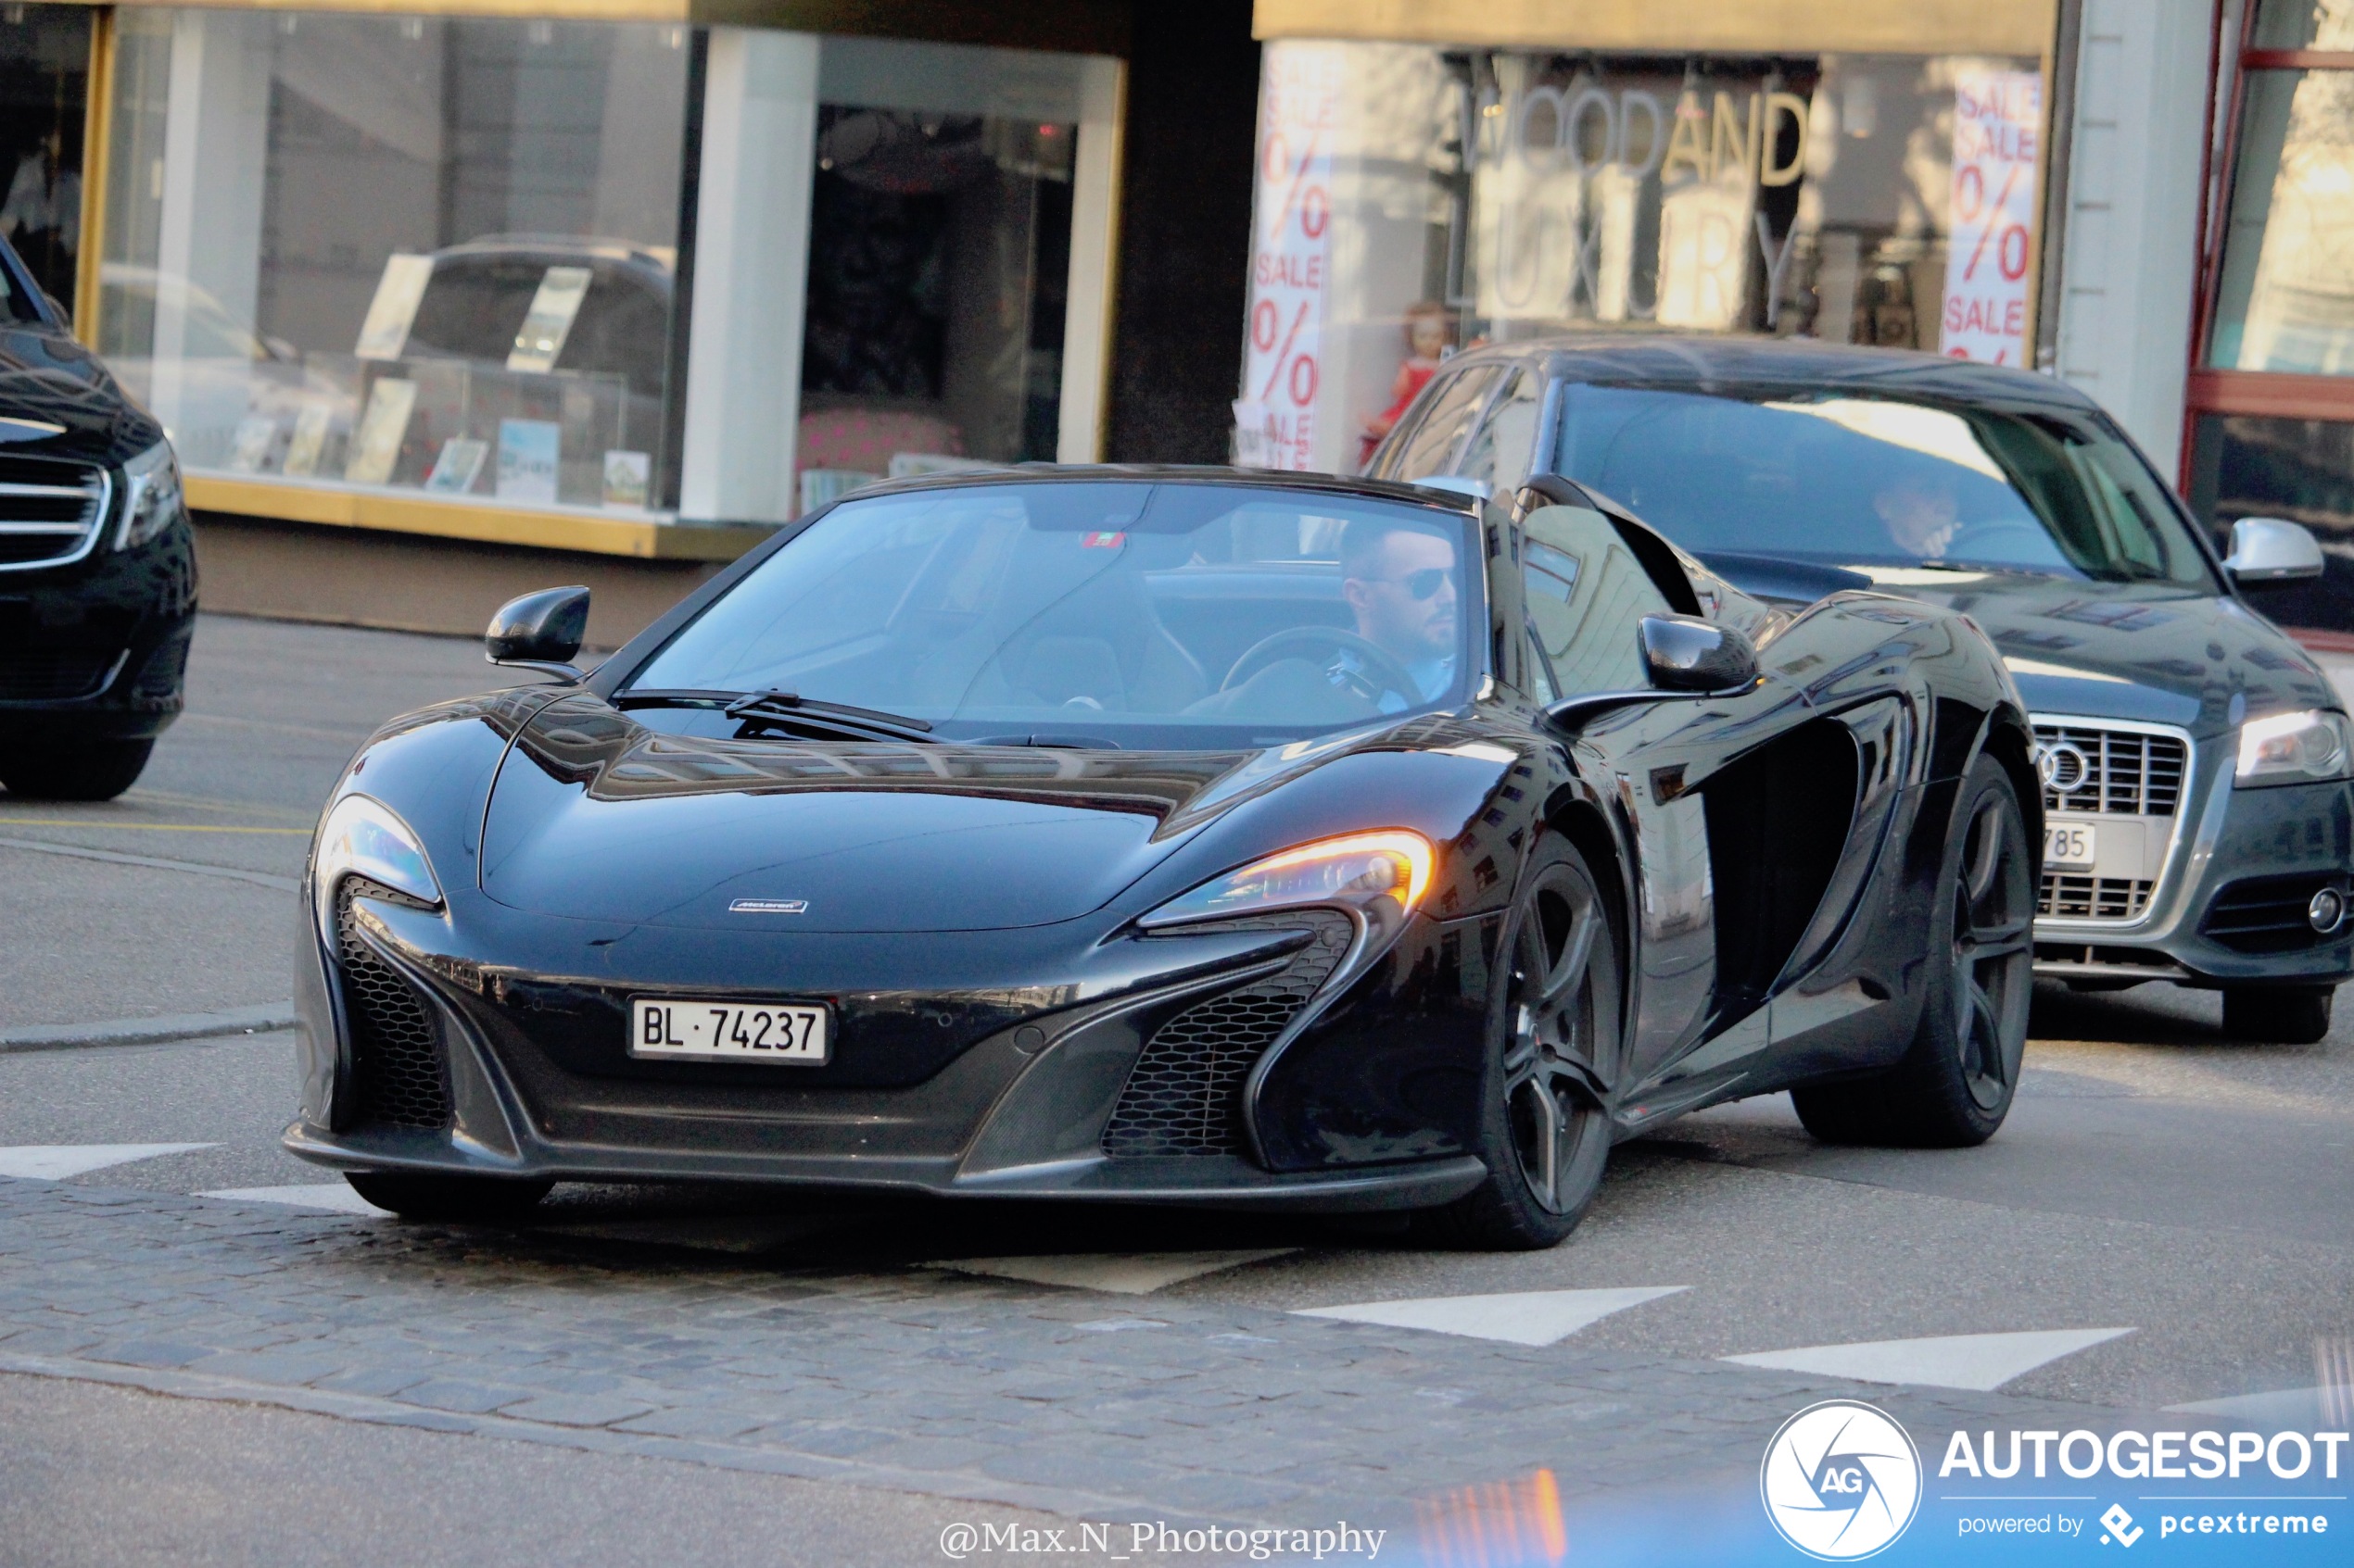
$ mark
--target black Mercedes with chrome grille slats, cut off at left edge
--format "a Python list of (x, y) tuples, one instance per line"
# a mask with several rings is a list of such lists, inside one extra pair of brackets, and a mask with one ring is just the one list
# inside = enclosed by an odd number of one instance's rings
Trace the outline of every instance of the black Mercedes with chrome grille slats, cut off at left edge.
[(172, 442), (0, 240), (0, 785), (132, 788), (179, 715), (193, 625)]

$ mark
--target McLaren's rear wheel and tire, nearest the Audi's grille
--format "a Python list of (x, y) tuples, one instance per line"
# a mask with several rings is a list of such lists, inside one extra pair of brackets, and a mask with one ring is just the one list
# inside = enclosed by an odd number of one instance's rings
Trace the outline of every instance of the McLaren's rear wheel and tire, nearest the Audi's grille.
[(1961, 780), (1930, 905), (1928, 994), (1888, 1072), (1791, 1091), (1824, 1143), (1961, 1150), (2010, 1114), (2034, 985), (2034, 856), (2010, 776), (1980, 757)]

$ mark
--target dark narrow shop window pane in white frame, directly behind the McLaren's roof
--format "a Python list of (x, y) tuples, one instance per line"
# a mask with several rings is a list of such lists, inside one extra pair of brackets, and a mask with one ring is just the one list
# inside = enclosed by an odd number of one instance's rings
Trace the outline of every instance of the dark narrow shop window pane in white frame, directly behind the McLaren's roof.
[(1076, 63), (826, 40), (800, 350), (803, 510), (876, 477), (1055, 461)]

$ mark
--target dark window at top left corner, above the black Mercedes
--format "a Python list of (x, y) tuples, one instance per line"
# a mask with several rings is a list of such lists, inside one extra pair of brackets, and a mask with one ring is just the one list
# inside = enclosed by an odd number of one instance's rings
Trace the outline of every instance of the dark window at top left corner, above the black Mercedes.
[(68, 310), (82, 244), (89, 16), (80, 5), (0, 7), (0, 235)]

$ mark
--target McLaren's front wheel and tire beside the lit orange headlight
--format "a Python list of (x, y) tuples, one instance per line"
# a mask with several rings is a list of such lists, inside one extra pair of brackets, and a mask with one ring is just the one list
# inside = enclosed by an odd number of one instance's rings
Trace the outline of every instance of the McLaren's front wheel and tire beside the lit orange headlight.
[(1565, 839), (1540, 853), (1499, 954), (1476, 1150), (1488, 1178), (1427, 1220), (1452, 1246), (1535, 1251), (1577, 1229), (1615, 1135), (1596, 1088), (1620, 1046), (1617, 936), (1601, 884)]

